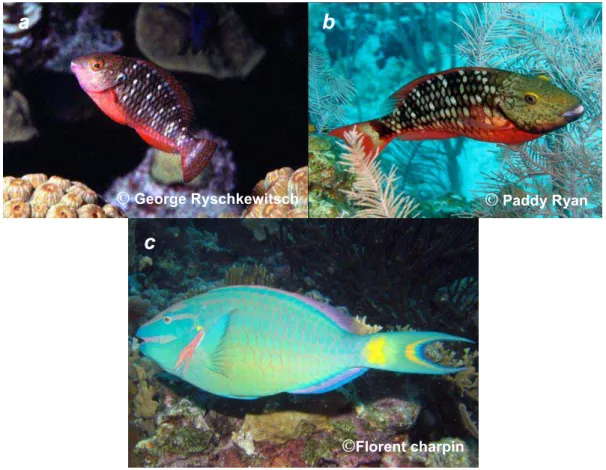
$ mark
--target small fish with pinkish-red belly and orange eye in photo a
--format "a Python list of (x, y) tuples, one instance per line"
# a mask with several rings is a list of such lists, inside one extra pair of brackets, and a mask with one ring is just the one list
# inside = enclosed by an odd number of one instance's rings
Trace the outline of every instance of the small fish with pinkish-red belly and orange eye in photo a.
[(78, 57), (71, 70), (110, 118), (132, 127), (149, 145), (179, 153), (186, 183), (208, 165), (217, 144), (197, 136), (200, 129), (189, 96), (166, 70), (115, 54)]

